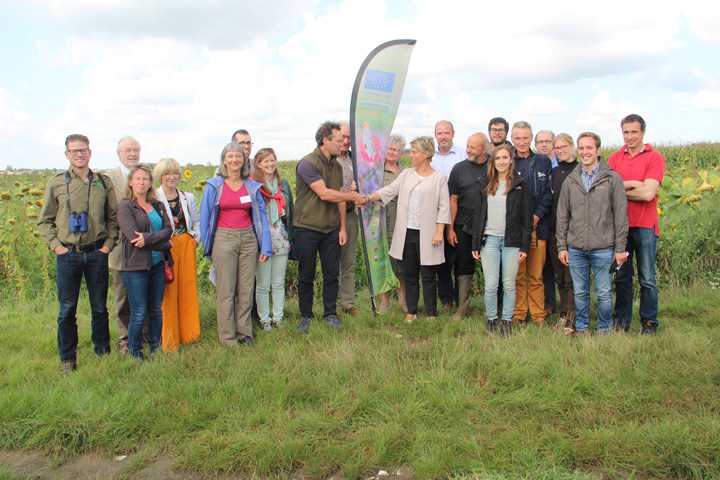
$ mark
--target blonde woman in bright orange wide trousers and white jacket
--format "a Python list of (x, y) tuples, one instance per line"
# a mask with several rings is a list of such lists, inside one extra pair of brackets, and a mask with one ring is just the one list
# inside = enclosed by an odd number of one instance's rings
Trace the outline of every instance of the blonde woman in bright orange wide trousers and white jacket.
[(200, 338), (200, 312), (197, 298), (196, 249), (200, 240), (200, 213), (195, 196), (177, 188), (182, 168), (172, 158), (163, 158), (155, 165), (155, 178), (160, 180), (158, 199), (165, 204), (173, 219), (175, 281), (165, 287), (163, 298), (162, 345), (174, 352), (180, 343)]

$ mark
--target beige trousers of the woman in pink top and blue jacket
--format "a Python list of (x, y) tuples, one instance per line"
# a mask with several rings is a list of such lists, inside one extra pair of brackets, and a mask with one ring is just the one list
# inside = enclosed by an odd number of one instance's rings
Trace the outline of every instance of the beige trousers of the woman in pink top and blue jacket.
[(218, 227), (212, 261), (216, 275), (218, 339), (221, 345), (232, 346), (243, 337), (252, 338), (250, 309), (257, 258), (257, 237), (252, 227)]

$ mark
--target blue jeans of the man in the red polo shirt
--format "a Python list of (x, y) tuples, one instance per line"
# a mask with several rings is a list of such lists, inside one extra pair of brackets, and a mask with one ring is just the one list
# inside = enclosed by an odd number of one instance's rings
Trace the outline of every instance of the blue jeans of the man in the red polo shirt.
[(632, 227), (628, 230), (627, 261), (618, 270), (615, 280), (615, 318), (618, 326), (630, 326), (633, 304), (633, 257), (637, 260), (640, 282), (640, 321), (657, 325), (658, 293), (655, 283), (657, 237), (652, 228)]

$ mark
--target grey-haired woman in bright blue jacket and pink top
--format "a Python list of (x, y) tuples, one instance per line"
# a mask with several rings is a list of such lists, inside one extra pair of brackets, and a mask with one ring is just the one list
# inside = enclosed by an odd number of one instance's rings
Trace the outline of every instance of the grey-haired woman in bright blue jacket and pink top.
[(255, 265), (272, 256), (262, 185), (249, 176), (242, 146), (228, 143), (200, 203), (200, 238), (217, 289), (218, 339), (228, 347), (255, 343), (250, 316)]

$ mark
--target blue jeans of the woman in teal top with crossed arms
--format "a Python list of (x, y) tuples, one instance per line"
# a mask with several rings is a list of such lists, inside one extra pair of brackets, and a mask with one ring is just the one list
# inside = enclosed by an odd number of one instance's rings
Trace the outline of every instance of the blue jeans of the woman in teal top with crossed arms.
[(128, 345), (135, 358), (143, 358), (142, 323), (148, 317), (148, 343), (155, 353), (162, 339), (162, 300), (165, 295), (165, 264), (158, 262), (150, 270), (123, 272), (123, 283), (130, 302)]

